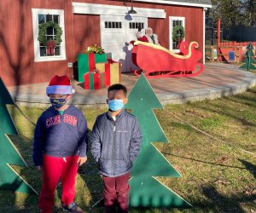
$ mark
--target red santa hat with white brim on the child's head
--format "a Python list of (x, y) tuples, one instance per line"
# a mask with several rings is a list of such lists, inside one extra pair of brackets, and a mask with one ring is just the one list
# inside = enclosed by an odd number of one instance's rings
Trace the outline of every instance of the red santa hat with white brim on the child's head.
[(46, 95), (60, 94), (60, 95), (72, 95), (75, 93), (75, 89), (70, 84), (70, 79), (67, 76), (57, 76), (51, 78), (49, 86), (46, 88)]

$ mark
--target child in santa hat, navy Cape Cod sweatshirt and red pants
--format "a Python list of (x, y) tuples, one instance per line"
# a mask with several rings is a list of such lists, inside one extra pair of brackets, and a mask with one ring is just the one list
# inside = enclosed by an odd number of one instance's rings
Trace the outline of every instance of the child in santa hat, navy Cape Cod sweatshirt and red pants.
[(67, 76), (55, 75), (50, 80), (46, 95), (52, 106), (38, 118), (34, 133), (32, 158), (37, 169), (43, 170), (39, 208), (44, 213), (52, 212), (59, 179), (62, 209), (83, 212), (73, 199), (79, 165), (87, 160), (88, 129), (83, 112), (67, 104), (74, 92)]

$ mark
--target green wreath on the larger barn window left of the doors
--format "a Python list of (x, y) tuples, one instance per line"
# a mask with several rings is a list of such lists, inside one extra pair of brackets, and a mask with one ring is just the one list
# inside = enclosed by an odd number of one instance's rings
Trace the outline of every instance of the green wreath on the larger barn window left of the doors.
[(48, 27), (53, 27), (55, 29), (56, 35), (55, 35), (54, 41), (55, 41), (55, 45), (59, 45), (62, 42), (62, 39), (61, 39), (62, 29), (61, 29), (61, 26), (59, 26), (57, 23), (54, 23), (52, 21), (39, 24), (38, 41), (40, 43), (43, 43), (44, 46), (47, 45), (48, 41), (45, 37), (45, 34)]

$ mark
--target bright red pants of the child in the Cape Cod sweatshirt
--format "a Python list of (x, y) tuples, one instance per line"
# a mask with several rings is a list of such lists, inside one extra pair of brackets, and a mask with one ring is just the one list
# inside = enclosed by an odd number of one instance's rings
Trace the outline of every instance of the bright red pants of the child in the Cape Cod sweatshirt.
[(78, 156), (56, 158), (44, 155), (43, 186), (39, 197), (39, 208), (42, 212), (52, 212), (55, 204), (55, 187), (61, 178), (61, 202), (64, 205), (73, 202), (75, 197), (75, 178), (79, 168)]

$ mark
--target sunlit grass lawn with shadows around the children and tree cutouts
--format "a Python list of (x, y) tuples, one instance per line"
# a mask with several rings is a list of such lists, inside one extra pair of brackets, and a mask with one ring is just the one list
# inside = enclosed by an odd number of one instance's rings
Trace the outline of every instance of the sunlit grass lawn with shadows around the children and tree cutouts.
[[(36, 122), (44, 109), (22, 110)], [(84, 110), (90, 129), (96, 115), (105, 110)], [(27, 168), (15, 166), (15, 170), (39, 192), (41, 174), (32, 165), (33, 126), (15, 107), (9, 107), (9, 112), (20, 132), (10, 137), (28, 164)], [(169, 143), (156, 143), (155, 147), (182, 175), (158, 180), (193, 207), (131, 212), (256, 212), (256, 87), (240, 95), (166, 105), (165, 110), (154, 112), (169, 139)], [(85, 212), (103, 211), (102, 207), (90, 207), (102, 198), (102, 181), (91, 157), (80, 167), (76, 187), (75, 201)], [(55, 212), (62, 212), (60, 189), (55, 193)], [(37, 195), (0, 190), (0, 198), (0, 212), (39, 212)]]

